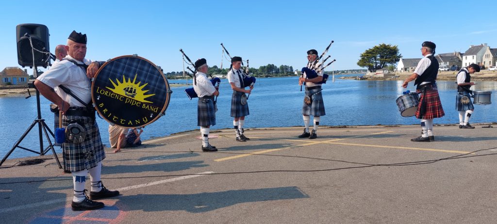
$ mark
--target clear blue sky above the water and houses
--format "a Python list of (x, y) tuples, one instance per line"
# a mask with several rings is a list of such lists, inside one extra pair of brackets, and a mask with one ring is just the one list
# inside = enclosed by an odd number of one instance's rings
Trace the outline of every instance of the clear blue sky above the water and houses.
[(165, 72), (182, 71), (180, 48), (193, 61), (206, 58), (219, 67), (220, 43), (232, 56), (249, 59), (250, 67), (300, 69), (307, 50), (321, 54), (334, 40), (329, 54), (336, 62), (327, 70), (361, 69), (359, 55), (381, 43), (399, 46), (404, 58), (420, 58), (426, 40), (437, 53), (481, 43), (497, 48), (497, 4), (491, 0), (58, 2), (1, 3), (0, 69), (18, 66), (15, 27), (21, 23), (48, 26), (51, 52), (76, 30), (88, 36), (88, 59), (138, 54)]

